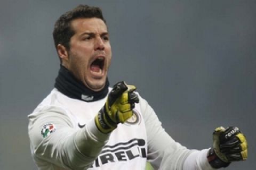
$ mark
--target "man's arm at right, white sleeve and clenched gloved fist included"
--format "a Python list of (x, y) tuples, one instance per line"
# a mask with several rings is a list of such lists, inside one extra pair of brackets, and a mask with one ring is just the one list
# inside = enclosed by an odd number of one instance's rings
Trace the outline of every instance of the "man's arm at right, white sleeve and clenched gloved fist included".
[[(247, 158), (247, 141), (233, 128), (214, 131), (214, 145), (210, 149), (189, 150), (175, 142), (162, 128), (154, 110), (140, 98), (148, 137), (148, 160), (155, 168), (203, 170), (227, 167), (230, 162)], [(236, 129), (236, 128), (234, 128)], [(230, 135), (230, 137), (229, 137)], [(226, 138), (224, 138), (226, 137)]]

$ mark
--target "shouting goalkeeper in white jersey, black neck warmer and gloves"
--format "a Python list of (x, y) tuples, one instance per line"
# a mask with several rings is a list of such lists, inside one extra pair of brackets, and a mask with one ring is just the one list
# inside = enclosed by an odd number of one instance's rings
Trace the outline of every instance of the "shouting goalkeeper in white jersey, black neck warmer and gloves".
[(124, 81), (109, 87), (108, 28), (98, 7), (60, 16), (53, 38), (60, 58), (55, 88), (29, 117), (39, 169), (214, 169), (247, 158), (236, 127), (215, 129), (213, 147), (189, 150), (162, 128), (154, 110)]

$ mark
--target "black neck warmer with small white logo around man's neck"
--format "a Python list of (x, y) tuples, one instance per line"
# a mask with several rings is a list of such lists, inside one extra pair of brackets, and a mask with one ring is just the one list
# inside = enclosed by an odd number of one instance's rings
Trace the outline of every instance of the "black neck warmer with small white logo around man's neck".
[(105, 87), (102, 90), (93, 91), (87, 88), (81, 81), (77, 80), (68, 69), (60, 65), (54, 87), (70, 98), (91, 102), (107, 96), (109, 81), (108, 79), (106, 80)]

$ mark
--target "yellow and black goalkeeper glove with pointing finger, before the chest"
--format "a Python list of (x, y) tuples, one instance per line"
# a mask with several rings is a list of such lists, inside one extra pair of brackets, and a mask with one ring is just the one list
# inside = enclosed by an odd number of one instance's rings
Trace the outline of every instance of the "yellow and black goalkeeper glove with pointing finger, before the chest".
[(124, 123), (132, 117), (135, 103), (139, 97), (135, 94), (136, 87), (118, 82), (110, 91), (105, 105), (95, 116), (95, 124), (102, 133), (109, 133), (116, 129), (118, 123)]

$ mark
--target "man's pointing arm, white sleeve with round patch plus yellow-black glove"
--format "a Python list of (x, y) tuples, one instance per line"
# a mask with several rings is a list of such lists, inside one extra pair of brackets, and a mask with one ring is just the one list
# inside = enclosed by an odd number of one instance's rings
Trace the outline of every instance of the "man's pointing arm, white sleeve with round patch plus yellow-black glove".
[[(134, 90), (134, 86), (124, 82), (117, 83), (106, 104), (81, 130), (73, 127), (74, 123), (68, 112), (60, 107), (47, 108), (30, 115), (29, 137), (34, 155), (63, 168), (90, 167), (107, 143), (111, 131), (118, 123), (123, 123), (132, 116), (134, 103), (138, 103)], [(46, 124), (48, 128), (40, 134)], [(52, 127), (51, 130), (49, 126)]]

